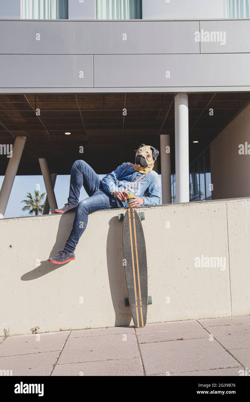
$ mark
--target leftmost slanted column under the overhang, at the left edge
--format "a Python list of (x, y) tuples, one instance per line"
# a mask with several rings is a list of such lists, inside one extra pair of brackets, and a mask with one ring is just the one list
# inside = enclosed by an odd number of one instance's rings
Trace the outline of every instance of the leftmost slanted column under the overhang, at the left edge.
[(10, 192), (16, 177), (16, 172), (22, 156), (25, 141), (26, 137), (16, 137), (14, 142), (12, 157), (9, 159), (8, 166), (4, 176), (4, 181), (2, 183), (0, 191), (0, 218), (4, 217), (4, 213), (6, 211), (6, 207), (10, 197)]

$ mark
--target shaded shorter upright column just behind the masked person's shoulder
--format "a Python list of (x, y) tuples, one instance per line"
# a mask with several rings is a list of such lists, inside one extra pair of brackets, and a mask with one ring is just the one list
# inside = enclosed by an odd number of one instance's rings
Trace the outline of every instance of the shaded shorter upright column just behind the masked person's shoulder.
[(171, 204), (170, 135), (161, 134), (161, 189), (163, 204)]

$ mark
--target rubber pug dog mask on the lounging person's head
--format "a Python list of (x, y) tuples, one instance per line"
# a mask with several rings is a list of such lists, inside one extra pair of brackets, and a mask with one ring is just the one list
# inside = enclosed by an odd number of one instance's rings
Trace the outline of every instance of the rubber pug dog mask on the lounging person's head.
[(141, 173), (149, 173), (154, 167), (154, 161), (159, 155), (154, 147), (150, 145), (140, 144), (135, 156), (134, 169)]

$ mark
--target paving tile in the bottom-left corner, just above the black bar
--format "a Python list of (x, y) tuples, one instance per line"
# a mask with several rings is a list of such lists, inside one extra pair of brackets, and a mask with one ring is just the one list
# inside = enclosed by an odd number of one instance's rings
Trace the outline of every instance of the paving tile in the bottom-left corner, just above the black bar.
[(12, 375), (50, 375), (59, 355), (57, 352), (0, 357), (0, 370), (12, 370)]

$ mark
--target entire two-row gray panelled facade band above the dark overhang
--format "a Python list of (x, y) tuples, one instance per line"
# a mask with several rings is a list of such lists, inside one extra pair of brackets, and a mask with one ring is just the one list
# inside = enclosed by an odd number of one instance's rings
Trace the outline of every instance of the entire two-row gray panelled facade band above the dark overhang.
[(2, 20), (0, 93), (247, 91), (249, 21)]

